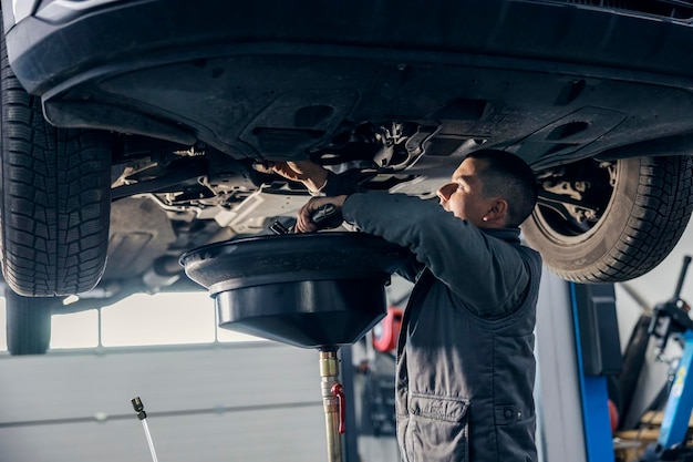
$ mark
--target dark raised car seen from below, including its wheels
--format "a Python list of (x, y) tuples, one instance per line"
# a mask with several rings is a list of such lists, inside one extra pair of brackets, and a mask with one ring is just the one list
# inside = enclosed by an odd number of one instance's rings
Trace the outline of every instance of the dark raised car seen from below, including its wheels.
[(514, 153), (540, 186), (524, 236), (578, 283), (648, 273), (693, 211), (689, 2), (3, 0), (2, 14), (2, 271), (52, 310), (192, 289), (185, 251), (290, 225), (309, 194), (268, 162), (435, 199), (466, 154)]

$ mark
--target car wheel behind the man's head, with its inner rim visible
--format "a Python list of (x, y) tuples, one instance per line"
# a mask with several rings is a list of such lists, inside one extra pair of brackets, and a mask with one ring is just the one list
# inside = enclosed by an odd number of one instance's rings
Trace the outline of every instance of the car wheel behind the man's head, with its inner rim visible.
[(586, 160), (542, 172), (524, 235), (563, 279), (635, 278), (681, 238), (693, 209), (692, 168), (692, 157), (663, 156)]

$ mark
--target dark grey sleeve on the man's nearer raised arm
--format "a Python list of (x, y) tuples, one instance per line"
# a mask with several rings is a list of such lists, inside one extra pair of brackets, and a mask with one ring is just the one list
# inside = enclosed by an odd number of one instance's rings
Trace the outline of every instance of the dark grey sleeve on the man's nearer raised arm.
[(386, 192), (354, 194), (342, 213), (359, 229), (407, 247), (479, 316), (511, 312), (529, 284), (518, 249), (433, 201)]

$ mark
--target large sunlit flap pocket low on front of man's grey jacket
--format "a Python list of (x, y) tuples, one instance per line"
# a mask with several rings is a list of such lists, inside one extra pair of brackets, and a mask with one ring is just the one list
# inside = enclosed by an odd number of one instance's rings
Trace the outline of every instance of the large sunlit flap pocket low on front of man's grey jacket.
[(408, 462), (469, 460), (469, 401), (412, 393), (403, 450)]

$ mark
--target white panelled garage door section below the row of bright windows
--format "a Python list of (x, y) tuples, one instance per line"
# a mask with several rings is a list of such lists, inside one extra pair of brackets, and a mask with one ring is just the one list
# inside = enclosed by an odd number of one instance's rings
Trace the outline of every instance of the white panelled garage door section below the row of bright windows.
[(0, 357), (0, 462), (324, 461), (318, 352), (275, 342)]

